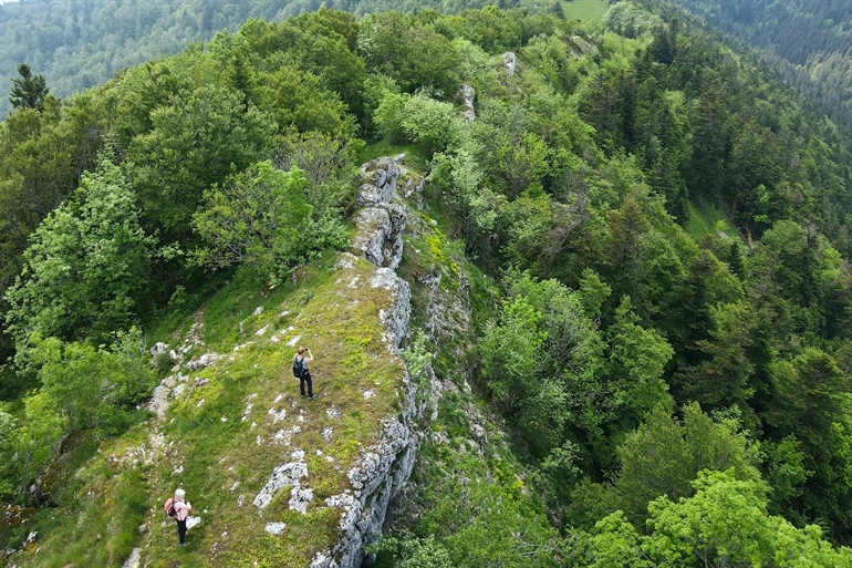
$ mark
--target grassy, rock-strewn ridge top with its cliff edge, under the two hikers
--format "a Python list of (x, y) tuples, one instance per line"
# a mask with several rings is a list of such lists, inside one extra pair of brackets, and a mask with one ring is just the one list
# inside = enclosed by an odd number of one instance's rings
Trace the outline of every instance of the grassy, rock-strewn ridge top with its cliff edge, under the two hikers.
[[(137, 562), (169, 566), (174, 521), (158, 503), (184, 486), (200, 524), (181, 566), (359, 566), (414, 458), (413, 385), (396, 355), (409, 292), (350, 254), (322, 265), (266, 297), (226, 282), (181, 322), (180, 343), (159, 344), (176, 365), (152, 402), (157, 417), (54, 482), (60, 515), (15, 564), (114, 565), (141, 527)], [(303, 343), (314, 400), (290, 371)]]

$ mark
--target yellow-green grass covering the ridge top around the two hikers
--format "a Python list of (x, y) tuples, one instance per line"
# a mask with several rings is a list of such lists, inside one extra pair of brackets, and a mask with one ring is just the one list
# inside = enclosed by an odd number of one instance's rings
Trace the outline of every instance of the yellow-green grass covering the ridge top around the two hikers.
[[(360, 450), (380, 435), (380, 419), (398, 409), (404, 374), (382, 340), (378, 310), (388, 292), (349, 287), (352, 276), (342, 281), (330, 266), (334, 259), (301, 269), (298, 286), (268, 298), (246, 278), (211, 298), (204, 308), (205, 351), (232, 358), (193, 372), (188, 385), (209, 382), (187, 388), (165, 423), (150, 420), (104, 443), (58, 492), (61, 507), (40, 514), (40, 551), (15, 561), (121, 566), (142, 546), (144, 566), (173, 566), (176, 559), (186, 567), (305, 566), (332, 545), (339, 512), (323, 499), (349, 487), (345, 473)], [(354, 270), (364, 281), (373, 267), (360, 260)], [(256, 316), (258, 306), (263, 311)], [(269, 331), (256, 337), (267, 324)], [(273, 332), (281, 341), (270, 340)], [(290, 371), (293, 348), (285, 343), (294, 338), (316, 357), (314, 401), (299, 397)], [(365, 399), (367, 390), (375, 396)], [(270, 412), (281, 410), (285, 417), (276, 423)], [(322, 437), (326, 427), (333, 428), (329, 442)], [(297, 450), (305, 452), (314, 492), (306, 515), (289, 508), (287, 489), (259, 514), (251, 500)], [(184, 549), (160, 509), (178, 484), (201, 517)], [(285, 523), (287, 530), (267, 534), (270, 521)]]

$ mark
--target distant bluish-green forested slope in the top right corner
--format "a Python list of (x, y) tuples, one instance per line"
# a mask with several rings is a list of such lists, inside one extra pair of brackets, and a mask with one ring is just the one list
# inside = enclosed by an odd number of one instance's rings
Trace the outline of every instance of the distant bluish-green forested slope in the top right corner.
[[(638, 1), (653, 10), (654, 2)], [(767, 51), (785, 79), (852, 127), (852, 4), (844, 0), (677, 0), (716, 29)]]

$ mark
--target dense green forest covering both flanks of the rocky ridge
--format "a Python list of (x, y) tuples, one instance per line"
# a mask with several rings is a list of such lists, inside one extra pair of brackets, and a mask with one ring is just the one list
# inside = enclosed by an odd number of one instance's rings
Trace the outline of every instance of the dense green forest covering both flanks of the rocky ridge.
[(360, 161), (405, 149), (471, 267), (474, 340), (433, 345), (436, 372), (520, 465), (423, 465), (384, 558), (852, 566), (850, 138), (675, 13), (321, 9), (64, 100), (32, 64), (0, 130), (0, 498), (48, 525), (33, 482), (62, 441), (145, 420), (143, 330), (343, 247)]

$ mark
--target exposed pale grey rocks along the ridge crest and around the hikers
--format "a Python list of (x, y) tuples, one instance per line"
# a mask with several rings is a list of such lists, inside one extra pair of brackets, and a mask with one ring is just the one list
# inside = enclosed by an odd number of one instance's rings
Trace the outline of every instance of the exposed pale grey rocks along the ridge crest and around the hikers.
[[(339, 275), (339, 286), (367, 287), (387, 292), (391, 302), (380, 310), (378, 318), (384, 329), (383, 341), (388, 354), (393, 358), (398, 358), (401, 343), (408, 333), (411, 317), (409, 285), (395, 272), (403, 258), (403, 230), (407, 223), (403, 196), (417, 203), (423, 188), (423, 178), (408, 172), (403, 161), (404, 156), (398, 155), (392, 158), (377, 158), (362, 166), (357, 195), (357, 204), (361, 208), (355, 214), (356, 236), (349, 251), (343, 252), (334, 266)], [(356, 267), (360, 262), (357, 257), (363, 257), (374, 265), (366, 278), (363, 266)], [(155, 360), (168, 359), (174, 363), (172, 373), (155, 390), (148, 404), (148, 409), (155, 412), (160, 421), (166, 417), (166, 411), (174, 401), (187, 396), (195, 389), (205, 386), (205, 381), (201, 380), (199, 383), (198, 378), (193, 379), (193, 373), (217, 365), (221, 360), (232, 361), (238, 357), (238, 351), (253, 342), (237, 345), (230, 354), (204, 353), (188, 359), (190, 353), (198, 353), (205, 349), (201, 339), (202, 310), (199, 310), (194, 319), (195, 323), (178, 348), (172, 349), (167, 344), (157, 344), (152, 349)], [(259, 330), (258, 333), (261, 331), (266, 333), (267, 328)], [(268, 339), (273, 342), (285, 341), (285, 335), (292, 332), (292, 328), (279, 330)], [(299, 340), (300, 335), (295, 335), (289, 338), (285, 344), (293, 347)], [(310, 562), (311, 568), (357, 568), (368, 564), (364, 561), (364, 547), (381, 535), (391, 499), (408, 479), (419, 443), (415, 421), (422, 409), (415, 404), (415, 388), (407, 375), (403, 379), (403, 392), (399, 393), (402, 407), (381, 421), (378, 441), (362, 448), (354, 464), (346, 471), (350, 487), (323, 499), (324, 506), (340, 510), (337, 538), (332, 546), (314, 555)], [(370, 390), (362, 394), (364, 400), (373, 395)], [(278, 413), (273, 410), (270, 409), (266, 421), (285, 420), (285, 412), (290, 412), (284, 411), (283, 407)], [(252, 403), (249, 401), (243, 421), (251, 412)], [(298, 416), (298, 421), (302, 419), (302, 415)], [(162, 440), (160, 428), (154, 425), (152, 430), (150, 440), (144, 444), (146, 447), (143, 448), (146, 461), (155, 458), (154, 454), (165, 452), (167, 446)], [(323, 432), (323, 438), (326, 442), (334, 435), (333, 431), (329, 430), (328, 435)], [(300, 431), (299, 425), (281, 428), (274, 440), (269, 442), (290, 446), (291, 438)], [(260, 438), (258, 443), (261, 443)], [(136, 454), (138, 452), (128, 452), (125, 458)], [(179, 478), (179, 472), (176, 471), (175, 475)], [(293, 446), (288, 451), (284, 459), (272, 469), (262, 488), (253, 496), (239, 495), (239, 503), (241, 504), (245, 499), (246, 506), (256, 507), (258, 514), (263, 517), (264, 509), (270, 503), (276, 500), (282, 492), (289, 492), (289, 498), (285, 499), (289, 508), (305, 514), (310, 505), (314, 507), (319, 505), (314, 502), (315, 496), (310, 478), (305, 452)], [(264, 530), (273, 536), (282, 535), (287, 530), (287, 525), (278, 519), (268, 518)], [(214, 545), (214, 548), (216, 546)], [(124, 566), (136, 568), (143, 564), (145, 564), (144, 549), (134, 549)]]

